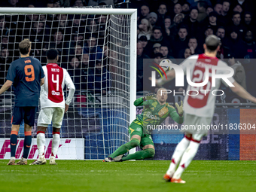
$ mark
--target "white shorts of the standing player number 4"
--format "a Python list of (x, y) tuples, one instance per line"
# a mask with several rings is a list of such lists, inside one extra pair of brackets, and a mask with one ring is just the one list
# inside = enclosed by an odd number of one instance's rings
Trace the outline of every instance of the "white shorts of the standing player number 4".
[(64, 108), (41, 108), (38, 116), (38, 126), (48, 126), (53, 122), (53, 127), (60, 128), (64, 111)]

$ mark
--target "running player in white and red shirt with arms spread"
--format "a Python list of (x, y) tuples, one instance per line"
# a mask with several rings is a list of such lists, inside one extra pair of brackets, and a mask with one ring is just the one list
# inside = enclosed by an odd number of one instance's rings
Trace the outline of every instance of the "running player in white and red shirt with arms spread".
[[(181, 67), (184, 71), (184, 75), (187, 73), (187, 67), (190, 67), (190, 79), (193, 83), (202, 83), (205, 80), (206, 66), (209, 67), (209, 81), (203, 87), (187, 87), (190, 96), (186, 94), (184, 97), (184, 126), (194, 125), (194, 129), (184, 129), (184, 139), (178, 143), (175, 151), (172, 155), (172, 162), (166, 175), (163, 179), (174, 183), (185, 183), (181, 180), (181, 174), (184, 169), (189, 166), (194, 156), (197, 154), (197, 150), (200, 145), (200, 141), (203, 136), (208, 133), (207, 129), (198, 129), (198, 125), (207, 126), (210, 125), (215, 110), (215, 98), (212, 95), (213, 90), (218, 90), (221, 81), (227, 86), (227, 82), (221, 78), (215, 79), (215, 87), (212, 86), (212, 67), (213, 66), (226, 66), (225, 62), (222, 62), (216, 57), (216, 54), (220, 48), (221, 41), (215, 35), (209, 35), (206, 38), (206, 44), (203, 45), (205, 53), (200, 55), (193, 55), (185, 59), (181, 63)], [(227, 70), (217, 69), (216, 75), (227, 74)], [(167, 81), (171, 81), (175, 78), (175, 71), (171, 70), (167, 74), (167, 80), (157, 80), (157, 85), (163, 85)], [(248, 99), (251, 102), (256, 102), (256, 98), (251, 96), (244, 88), (242, 88), (233, 78), (227, 78), (234, 87), (230, 89), (243, 99)], [(198, 95), (196, 91), (198, 91)], [(208, 91), (200, 91), (208, 90)], [(210, 91), (209, 91), (210, 90)], [(186, 92), (187, 93), (187, 92)], [(215, 95), (217, 93), (215, 92)], [(197, 96), (191, 96), (197, 95)], [(197, 128), (195, 129), (195, 125)], [(181, 130), (182, 131), (182, 130)], [(179, 166), (178, 166), (179, 164)], [(178, 166), (178, 169), (176, 167)]]

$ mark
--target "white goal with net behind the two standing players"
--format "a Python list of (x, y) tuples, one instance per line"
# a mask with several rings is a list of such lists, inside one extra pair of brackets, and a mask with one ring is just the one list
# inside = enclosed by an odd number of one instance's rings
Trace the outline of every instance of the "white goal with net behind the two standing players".
[[(136, 117), (136, 10), (0, 8), (0, 36), (1, 86), (11, 62), (20, 57), (18, 45), (24, 38), (32, 41), (30, 55), (42, 66), (47, 64), (46, 51), (56, 48), (59, 66), (67, 69), (75, 84), (73, 102), (62, 122), (59, 159), (100, 160), (129, 142), (128, 126)], [(0, 96), (0, 159), (10, 157), (13, 107), (11, 88)], [(32, 159), (38, 157), (37, 117)], [(24, 124), (17, 158), (23, 153), (23, 130)], [(52, 126), (46, 138), (45, 154), (50, 157)]]

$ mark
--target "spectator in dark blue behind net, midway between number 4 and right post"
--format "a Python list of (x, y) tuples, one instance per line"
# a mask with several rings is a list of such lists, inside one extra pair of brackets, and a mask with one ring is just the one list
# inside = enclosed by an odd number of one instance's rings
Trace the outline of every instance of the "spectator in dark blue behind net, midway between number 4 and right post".
[(93, 93), (105, 95), (110, 90), (110, 74), (102, 67), (102, 61), (97, 60), (95, 68), (88, 75), (88, 90)]

